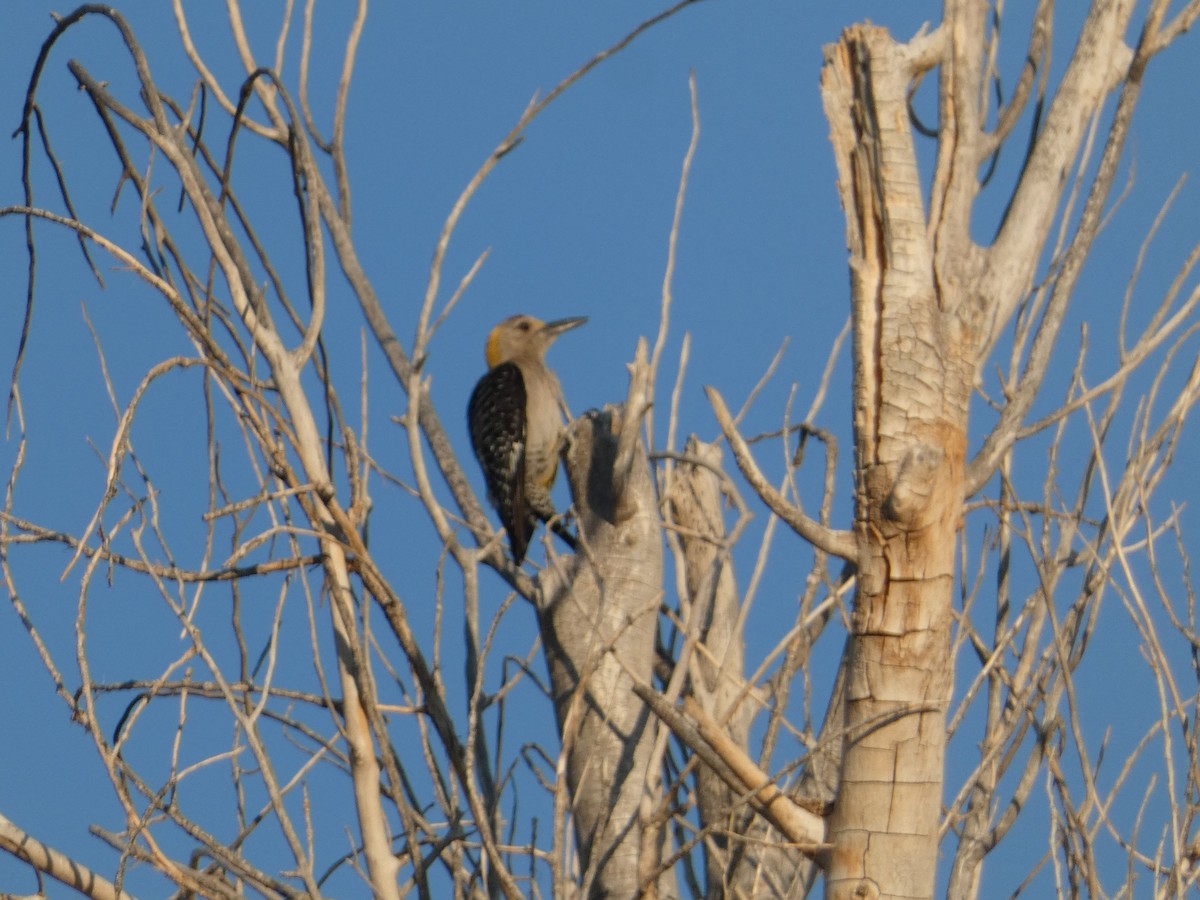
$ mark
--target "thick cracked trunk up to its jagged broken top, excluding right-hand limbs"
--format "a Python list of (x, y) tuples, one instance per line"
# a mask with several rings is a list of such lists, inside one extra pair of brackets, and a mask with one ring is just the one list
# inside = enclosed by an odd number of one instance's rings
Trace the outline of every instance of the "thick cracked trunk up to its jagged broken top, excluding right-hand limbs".
[(938, 304), (905, 48), (859, 26), (823, 72), (847, 214), (859, 587), (827, 895), (930, 896), (972, 343)]

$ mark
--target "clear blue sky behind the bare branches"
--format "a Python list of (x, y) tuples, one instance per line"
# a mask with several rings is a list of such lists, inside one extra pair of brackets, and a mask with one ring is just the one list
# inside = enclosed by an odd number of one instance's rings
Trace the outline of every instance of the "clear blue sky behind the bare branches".
[[(146, 48), (162, 88), (186, 102), (194, 73), (179, 49), (168, 5), (120, 6)], [(269, 56), (282, 5), (247, 6), (253, 7), (246, 13), (256, 49)], [(1024, 7), (1031, 4), (1019, 6), (1010, 11), (1006, 25), (1014, 41), (1022, 32), (1022, 17), (1028, 16)], [(48, 13), (55, 8), (61, 12), (64, 7), (29, 1), (5, 10), (0, 121), (7, 122), (10, 131), (19, 124), (28, 74), (50, 29)], [(216, 4), (188, 5), (202, 53), (234, 90), (241, 73), (221, 8)], [(475, 169), (535, 92), (548, 91), (659, 8), (632, 0), (458, 4), (452, 8), (380, 2), (372, 8), (347, 126), (354, 234), (360, 257), (404, 340), (416, 323), (437, 234)], [(682, 404), (683, 434), (696, 432), (712, 439), (716, 428), (702, 385), (716, 385), (732, 407), (740, 406), (785, 338), (790, 346), (781, 370), (757, 400), (743, 431), (754, 434), (779, 428), (793, 384), (798, 389), (792, 419), (802, 416), (848, 311), (844, 223), (818, 94), (821, 48), (853, 22), (878, 22), (906, 37), (937, 14), (936, 4), (886, 0), (840, 5), (708, 0), (641, 37), (551, 107), (472, 203), (444, 270), (443, 284), (452, 289), (480, 253), (490, 250), (470, 290), (438, 332), (426, 370), (442, 418), (464, 457), (469, 451), (462, 409), (482, 368), (484, 337), (491, 324), (510, 313), (588, 316), (587, 328), (565, 336), (552, 352), (569, 402), (580, 410), (624, 396), (624, 362), (632, 358), (637, 338), (653, 340), (658, 329), (667, 232), (690, 134), (689, 72), (696, 77), (702, 133), (679, 239), (656, 438), (665, 439), (670, 386), (685, 331), (691, 335), (691, 362)], [(1069, 17), (1070, 11), (1061, 14)], [(341, 7), (320, 7), (318, 17), (313, 97), (322, 126), (328, 127), (331, 95), (326, 85), (331, 67), (340, 64), (347, 23), (341, 19)], [(1067, 59), (1069, 25), (1068, 19), (1056, 30), (1055, 66)], [(1193, 44), (1193, 37), (1184, 38), (1151, 67), (1129, 143), (1133, 192), (1102, 235), (1081, 283), (1075, 330), (1063, 334), (1068, 364), (1074, 359), (1084, 318), (1092, 323), (1098, 336), (1093, 343), (1100, 354), (1105, 323), (1117, 308), (1136, 245), (1172, 185), (1195, 164), (1200, 116), (1188, 103), (1200, 74), (1200, 56)], [(1019, 50), (1007, 48), (1007, 54), (1014, 54), (1008, 59), (1016, 59)], [(84, 218), (101, 230), (119, 233), (134, 221), (136, 204), (126, 188), (115, 216), (108, 217), (115, 163), (90, 103), (74, 89), (66, 70), (71, 58), (109, 82), (114, 92), (124, 91), (133, 104), (131, 66), (115, 30), (96, 19), (77, 28), (56, 49), (40, 95)], [(293, 44), (283, 67), (289, 84), (296, 65)], [(929, 106), (929, 96), (918, 98), (918, 106), (922, 101)], [(239, 162), (242, 197), (254, 205), (259, 229), (281, 266), (296, 272), (289, 278), (293, 290), (299, 292), (302, 258), (296, 251), (294, 208), (282, 157), (254, 150), (250, 142), (246, 148), (248, 152)], [(926, 142), (924, 176), (931, 149)], [(1019, 162), (1015, 152), (1001, 157), (991, 196), (980, 204), (980, 238), (1002, 209), (1006, 186)], [(49, 170), (44, 163), (36, 170), (35, 200), (58, 208)], [(20, 200), (19, 172), (19, 142), (0, 143), (0, 204)], [(1152, 250), (1139, 288), (1147, 304), (1195, 240), (1200, 205), (1194, 194), (1194, 188), (1184, 187)], [(188, 347), (161, 302), (127, 274), (113, 270), (108, 259), (97, 254), (107, 284), (101, 290), (71, 240), (49, 228), (40, 228), (38, 235), (37, 310), (22, 373), (30, 458), (17, 506), (30, 518), (78, 530), (103, 488), (102, 469), (88, 442), (107, 452), (114, 421), (83, 310), (103, 343), (120, 404), (128, 401), (149, 366), (187, 353)], [(24, 296), (24, 238), (17, 220), (0, 222), (0, 270), (8, 286), (6, 302), (0, 306), (0, 335), (7, 336), (0, 341), (0, 371), (7, 372)], [(331, 302), (346, 310), (330, 317), (326, 336), (343, 402), (354, 410), (361, 322), (353, 298), (336, 280)], [(1068, 372), (1058, 373), (1060, 386)], [(404, 401), (374, 352), (368, 354), (368, 378), (371, 450), (392, 469), (407, 473), (403, 434), (390, 424), (390, 416), (403, 412)], [(850, 515), (848, 378), (844, 356), (817, 419), (818, 425), (841, 436), (840, 524), (846, 524)], [(203, 475), (203, 424), (186, 412), (197, 402), (196, 384), (191, 376), (172, 376), (148, 397), (134, 430), (139, 457), (173, 509), (182, 511), (170, 533), (185, 559), (198, 552), (197, 536), (186, 523), (196, 521), (206, 503), (203, 482), (197, 486), (196, 481), (197, 473)], [(350, 418), (358, 421), (356, 413)], [(14, 449), (14, 439), (0, 445), (5, 472)], [(760, 444), (757, 452), (772, 472), (780, 470), (784, 451), (778, 443)], [(1038, 463), (1031, 466), (1028, 475), (1040, 478)], [(815, 490), (818, 475), (802, 479), (804, 488)], [(414, 559), (436, 554), (419, 506), (378, 482), (376, 490), (373, 536), (394, 546), (397, 572), (409, 571)], [(1186, 498), (1187, 490), (1181, 481), (1175, 497)], [(815, 503), (816, 494), (805, 496)], [(755, 528), (761, 529), (764, 521), (760, 511)], [(973, 536), (979, 532), (982, 526)], [(808, 558), (798, 539), (776, 538), (773, 574), (760, 601), (762, 630), (754, 632), (766, 646), (772, 622), (791, 616), (802, 588), (797, 580)], [(58, 581), (67, 556), (43, 552), (36, 557), (37, 565), (32, 559), (23, 564), (28, 577), (22, 588), (24, 599), (54, 647), (70, 653), (77, 581)], [(749, 556), (739, 560), (743, 580), (751, 560)], [(402, 594), (407, 594), (419, 626), (428, 629), (432, 624), (422, 619), (419, 601), (431, 589), (432, 566), (425, 569), (404, 582)], [(173, 630), (169, 622), (146, 616), (144, 604), (152, 600), (130, 580), (118, 581), (119, 589), (97, 594), (94, 601), (100, 607), (97, 644), (108, 642), (107, 650), (98, 650), (98, 659), (110, 666), (104, 677), (128, 677), (134, 668), (130, 660), (138, 654), (155, 658), (146, 662), (146, 671), (154, 672), (154, 665), (161, 665), (160, 655), (169, 659), (179, 654), (178, 626)], [(493, 604), (503, 598), (498, 580), (487, 578), (486, 587)], [(1114, 628), (1118, 626), (1120, 619)], [(532, 632), (527, 610), (514, 617), (516, 643), (521, 628)], [(305, 638), (298, 632), (298, 640)], [(835, 643), (830, 642), (829, 653), (836, 653)], [(1124, 649), (1132, 648), (1130, 643)], [(1136, 654), (1130, 656), (1130, 665), (1136, 666)], [(64, 706), (52, 698), (49, 679), (11, 610), (0, 612), (0, 678), (10, 685), (0, 700), (0, 721), (10, 734), (0, 744), (7, 773), (0, 776), (0, 812), (110, 872), (110, 854), (85, 835), (88, 822), (107, 827), (119, 822), (108, 787), (82, 730), (66, 720)], [(25, 760), (38, 762), (14, 766)], [(14, 776), (18, 770), (19, 778)], [(70, 803), (50, 799), (66, 796)], [(0, 890), (31, 889), (20, 871), (0, 859)], [(154, 888), (143, 890), (155, 894)]]

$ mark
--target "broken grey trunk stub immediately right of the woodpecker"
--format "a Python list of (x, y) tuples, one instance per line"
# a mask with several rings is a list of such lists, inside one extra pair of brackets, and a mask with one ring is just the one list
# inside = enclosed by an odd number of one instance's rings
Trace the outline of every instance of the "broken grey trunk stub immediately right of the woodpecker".
[(662, 540), (640, 432), (644, 346), (623, 407), (571, 424), (564, 462), (580, 551), (540, 578), (538, 619), (563, 737), (584, 896), (635, 896), (656, 877), (661, 838), (649, 772), (656, 720), (632, 685), (652, 679)]

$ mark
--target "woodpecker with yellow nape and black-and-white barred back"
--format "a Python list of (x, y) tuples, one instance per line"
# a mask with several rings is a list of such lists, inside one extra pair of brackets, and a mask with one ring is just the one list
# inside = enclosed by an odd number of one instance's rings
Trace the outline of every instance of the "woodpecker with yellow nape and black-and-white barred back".
[[(563, 444), (562, 389), (546, 367), (546, 349), (586, 318), (541, 322), (510, 316), (487, 336), (487, 374), (467, 407), (475, 457), (487, 497), (509, 533), (512, 559), (521, 564), (538, 520), (554, 517), (550, 488)], [(565, 528), (554, 532), (575, 547)]]

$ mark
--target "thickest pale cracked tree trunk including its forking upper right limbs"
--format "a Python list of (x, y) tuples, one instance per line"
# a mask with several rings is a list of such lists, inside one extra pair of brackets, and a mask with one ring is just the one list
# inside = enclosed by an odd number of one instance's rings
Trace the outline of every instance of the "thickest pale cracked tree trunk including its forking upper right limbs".
[[(1126, 46), (1132, 8), (1092, 4), (990, 246), (970, 230), (978, 173), (1007, 134), (986, 130), (979, 101), (986, 5), (948, 0), (943, 23), (908, 43), (864, 24), (827, 48), (822, 98), (850, 250), (859, 577), (827, 896), (934, 893), (962, 504), (1016, 439), (1098, 228), (1136, 97), (1129, 84), (1154, 46), (1153, 35), (1138, 56)], [(907, 101), (934, 68), (937, 158), (926, 215)], [(1127, 78), (1016, 394), (968, 467), (977, 368), (1028, 295), (1087, 122)]]

